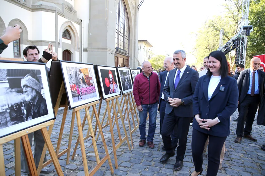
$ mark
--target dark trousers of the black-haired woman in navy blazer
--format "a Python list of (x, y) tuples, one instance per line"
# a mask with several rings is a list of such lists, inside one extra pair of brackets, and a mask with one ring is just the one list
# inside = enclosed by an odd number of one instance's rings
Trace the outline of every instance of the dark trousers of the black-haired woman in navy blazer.
[(206, 176), (216, 176), (220, 164), (220, 154), (227, 137), (212, 136), (193, 129), (191, 140), (192, 158), (195, 166), (195, 171), (200, 172), (203, 163), (202, 153), (208, 136), (208, 169)]

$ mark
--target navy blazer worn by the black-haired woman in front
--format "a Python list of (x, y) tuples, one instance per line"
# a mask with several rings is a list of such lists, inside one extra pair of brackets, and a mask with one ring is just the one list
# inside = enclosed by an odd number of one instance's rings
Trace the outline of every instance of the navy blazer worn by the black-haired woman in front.
[[(200, 128), (195, 117), (192, 127), (202, 133), (212, 136), (226, 137), (230, 134), (230, 116), (236, 111), (238, 106), (237, 81), (226, 76), (221, 78), (214, 93), (208, 101), (208, 85), (210, 76), (200, 77), (193, 95), (193, 115), (200, 114), (201, 119), (215, 119), (218, 117), (220, 123), (210, 127), (210, 131)], [(220, 91), (220, 86), (224, 91)]]

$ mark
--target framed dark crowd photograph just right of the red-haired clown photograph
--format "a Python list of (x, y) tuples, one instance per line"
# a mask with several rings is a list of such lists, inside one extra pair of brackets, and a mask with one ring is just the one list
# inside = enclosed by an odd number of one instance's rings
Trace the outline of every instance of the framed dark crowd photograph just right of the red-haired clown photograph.
[(132, 92), (132, 77), (130, 68), (117, 67), (122, 87), (122, 94)]

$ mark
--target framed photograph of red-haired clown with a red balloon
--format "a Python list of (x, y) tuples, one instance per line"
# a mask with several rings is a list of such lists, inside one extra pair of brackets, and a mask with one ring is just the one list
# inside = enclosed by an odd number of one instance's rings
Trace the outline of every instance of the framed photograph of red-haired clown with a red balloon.
[(103, 99), (120, 95), (116, 67), (97, 65)]

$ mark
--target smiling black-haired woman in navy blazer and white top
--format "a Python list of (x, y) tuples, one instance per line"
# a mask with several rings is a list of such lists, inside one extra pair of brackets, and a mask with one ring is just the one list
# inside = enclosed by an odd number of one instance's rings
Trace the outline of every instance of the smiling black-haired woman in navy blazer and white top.
[(228, 65), (221, 51), (208, 56), (208, 71), (200, 77), (193, 95), (193, 132), (191, 141), (195, 171), (202, 173), (203, 150), (209, 137), (208, 169), (206, 176), (216, 176), (224, 142), (230, 134), (230, 116), (238, 105), (237, 81), (227, 76)]

